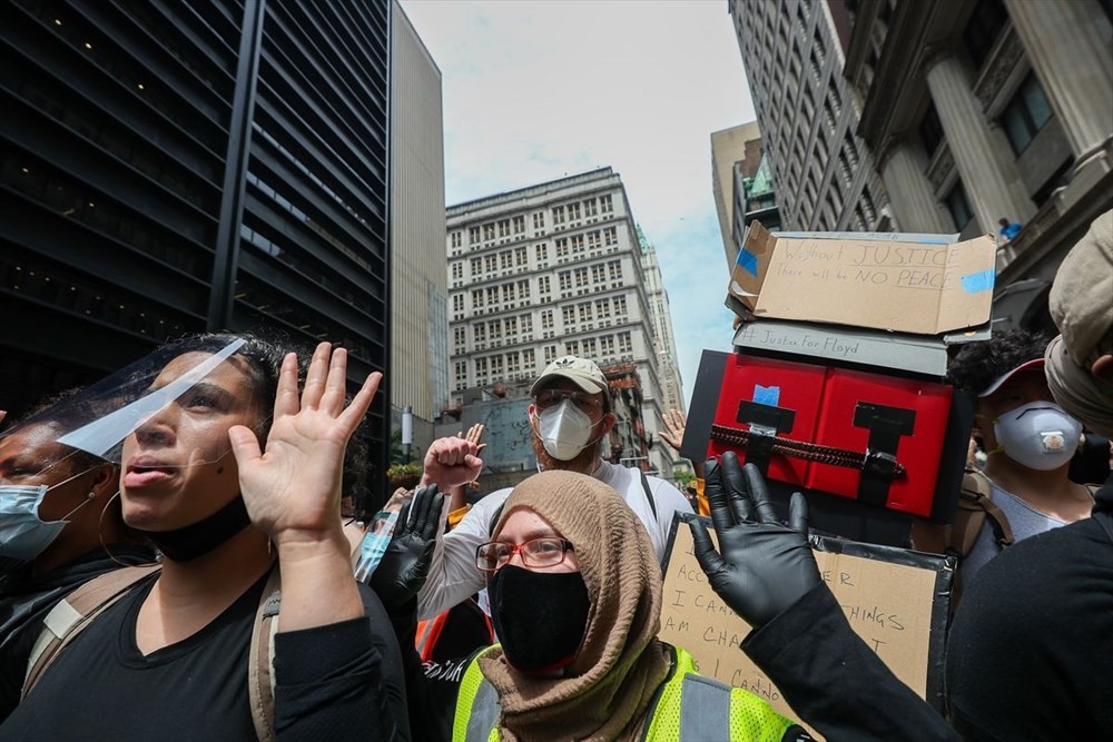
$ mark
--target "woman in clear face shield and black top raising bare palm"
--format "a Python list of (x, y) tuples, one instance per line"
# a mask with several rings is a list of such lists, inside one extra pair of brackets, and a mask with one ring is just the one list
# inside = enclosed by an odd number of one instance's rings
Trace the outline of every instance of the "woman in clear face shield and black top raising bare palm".
[[(299, 385), (273, 343), (186, 338), (120, 374), (115, 412), (58, 438), (121, 452), (124, 521), (161, 568), (66, 635), (0, 739), (408, 739), (397, 642), (352, 576), (339, 512), (382, 375), (348, 404), (346, 367), (323, 343)], [(275, 611), (264, 716), (253, 631)]]

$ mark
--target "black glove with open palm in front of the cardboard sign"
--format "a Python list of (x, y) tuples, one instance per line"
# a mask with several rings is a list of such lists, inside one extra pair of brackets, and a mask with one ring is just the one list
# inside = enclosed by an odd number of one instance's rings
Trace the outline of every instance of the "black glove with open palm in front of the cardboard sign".
[[(777, 520), (769, 491), (754, 464), (745, 469), (733, 452), (703, 465), (703, 491), (720, 556), (707, 528), (691, 522), (696, 561), (711, 590), (755, 629), (819, 584), (819, 567), (808, 544), (808, 505), (800, 493), (789, 506), (791, 528)], [(752, 520), (751, 520), (752, 518)]]

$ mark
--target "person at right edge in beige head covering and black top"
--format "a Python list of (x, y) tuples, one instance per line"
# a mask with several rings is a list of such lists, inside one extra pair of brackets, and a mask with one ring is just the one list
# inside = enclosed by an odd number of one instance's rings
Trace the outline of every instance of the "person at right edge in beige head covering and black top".
[[(1113, 436), (1113, 211), (1060, 266), (1048, 305), (1052, 394)], [(966, 740), (1113, 739), (1113, 477), (1092, 517), (986, 565), (955, 615), (946, 685)]]

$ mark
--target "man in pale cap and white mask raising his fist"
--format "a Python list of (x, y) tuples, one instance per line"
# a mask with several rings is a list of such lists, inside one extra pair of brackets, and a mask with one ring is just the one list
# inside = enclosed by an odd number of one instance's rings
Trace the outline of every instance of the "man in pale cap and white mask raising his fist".
[[(599, 366), (575, 356), (558, 358), (533, 383), (530, 396), (530, 431), (539, 471), (585, 474), (618, 491), (646, 527), (660, 560), (673, 513), (691, 513), (692, 507), (668, 482), (600, 456), (600, 444), (617, 417), (610, 409), (610, 386)], [(444, 446), (437, 448), (440, 444)], [(476, 451), (452, 439), (436, 442), (425, 457), (422, 483), (447, 489), (476, 478), (482, 462), (475, 458)], [(453, 449), (446, 451), (449, 446)], [(475, 550), (489, 541), (493, 521), (510, 492), (500, 489), (480, 499), (437, 544), (429, 581), (418, 597), (422, 619), (433, 617), (484, 587), (475, 570)]]

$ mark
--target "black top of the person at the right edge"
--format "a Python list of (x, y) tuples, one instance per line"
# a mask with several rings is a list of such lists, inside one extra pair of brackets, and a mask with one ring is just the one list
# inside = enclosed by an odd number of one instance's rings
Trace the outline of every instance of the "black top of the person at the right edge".
[(967, 740), (1113, 739), (1113, 479), (1093, 517), (993, 558), (947, 642)]

